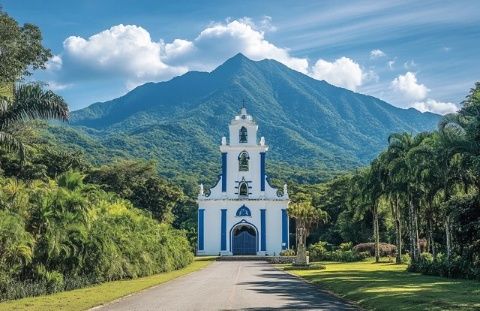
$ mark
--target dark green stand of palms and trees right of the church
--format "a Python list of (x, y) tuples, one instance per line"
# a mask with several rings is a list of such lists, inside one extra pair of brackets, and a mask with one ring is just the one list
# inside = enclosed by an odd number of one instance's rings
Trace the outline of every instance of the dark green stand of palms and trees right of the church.
[[(480, 83), (437, 131), (392, 134), (370, 166), (317, 186), (314, 205), (331, 222), (313, 241), (380, 241), (411, 257), (412, 271), (480, 278)], [(429, 253), (425, 255), (422, 253)]]

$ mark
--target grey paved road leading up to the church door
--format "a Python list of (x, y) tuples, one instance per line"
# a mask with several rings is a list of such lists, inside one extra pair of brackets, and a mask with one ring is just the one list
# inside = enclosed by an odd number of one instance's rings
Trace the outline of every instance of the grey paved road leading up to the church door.
[(217, 261), (97, 310), (355, 310), (266, 262)]

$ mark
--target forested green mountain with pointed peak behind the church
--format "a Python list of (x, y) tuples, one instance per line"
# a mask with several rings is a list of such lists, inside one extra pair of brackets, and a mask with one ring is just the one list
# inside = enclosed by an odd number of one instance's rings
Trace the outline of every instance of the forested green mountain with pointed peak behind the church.
[[(270, 145), (273, 177), (323, 179), (368, 163), (392, 132), (436, 127), (439, 116), (396, 108), (318, 81), (274, 60), (237, 54), (214, 71), (188, 72), (72, 113), (70, 128), (51, 133), (92, 157), (155, 159), (169, 177), (215, 178), (218, 145), (245, 101)], [(307, 176), (308, 175), (308, 176)]]

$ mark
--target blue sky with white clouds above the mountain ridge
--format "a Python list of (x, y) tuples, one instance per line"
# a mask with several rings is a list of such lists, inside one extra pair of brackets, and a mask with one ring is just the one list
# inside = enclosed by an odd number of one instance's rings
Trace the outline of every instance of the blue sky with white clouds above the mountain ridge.
[(72, 110), (237, 52), (399, 107), (447, 113), (480, 81), (479, 1), (0, 0), (55, 57)]

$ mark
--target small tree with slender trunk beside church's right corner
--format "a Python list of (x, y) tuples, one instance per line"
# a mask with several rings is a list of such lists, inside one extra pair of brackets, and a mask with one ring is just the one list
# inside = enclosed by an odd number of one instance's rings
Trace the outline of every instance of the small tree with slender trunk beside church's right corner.
[(288, 206), (288, 215), (295, 219), (297, 228), (297, 258), (296, 264), (307, 264), (306, 243), (310, 231), (320, 222), (328, 219), (328, 214), (312, 205), (311, 198), (302, 196)]

